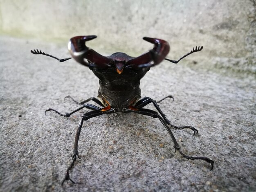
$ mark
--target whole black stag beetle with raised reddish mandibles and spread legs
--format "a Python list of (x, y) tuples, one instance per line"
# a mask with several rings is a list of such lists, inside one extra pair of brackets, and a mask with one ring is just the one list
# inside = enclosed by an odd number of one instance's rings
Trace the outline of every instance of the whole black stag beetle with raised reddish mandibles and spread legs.
[[(72, 163), (67, 168), (65, 178), (63, 179), (61, 185), (63, 185), (64, 181), (72, 181), (75, 183), (69, 175), (70, 170), (74, 167), (74, 163), (76, 161), (76, 157), (79, 157), (78, 152), (78, 141), (79, 135), (81, 132), (81, 128), (83, 126), (83, 121), (87, 121), (88, 119), (96, 116), (100, 116), (103, 114), (112, 114), (117, 112), (123, 113), (130, 113), (134, 112), (141, 115), (151, 116), (153, 118), (158, 118), (161, 123), (164, 125), (168, 133), (170, 134), (173, 143), (175, 152), (178, 151), (182, 157), (190, 160), (200, 159), (204, 160), (211, 164), (211, 170), (213, 169), (214, 161), (207, 158), (207, 157), (192, 157), (187, 156), (182, 153), (180, 149), (180, 145), (177, 143), (173, 133), (171, 132), (171, 127), (174, 129), (184, 129), (188, 128), (191, 129), (194, 133), (193, 135), (198, 133), (198, 130), (192, 126), (175, 126), (172, 125), (171, 122), (166, 118), (162, 110), (159, 108), (157, 103), (161, 102), (165, 98), (173, 98), (172, 96), (167, 96), (159, 101), (155, 101), (149, 97), (141, 98), (141, 90), (139, 88), (140, 79), (147, 73), (150, 67), (154, 65), (158, 65), (162, 62), (162, 60), (168, 60), (172, 63), (178, 63), (184, 57), (197, 52), (201, 51), (203, 47), (195, 47), (191, 52), (181, 57), (179, 60), (170, 60), (165, 58), (168, 54), (170, 47), (168, 42), (162, 39), (157, 38), (148, 38), (144, 37), (143, 39), (153, 43), (153, 49), (149, 50), (148, 52), (142, 54), (138, 57), (131, 57), (125, 53), (114, 53), (110, 56), (102, 56), (98, 54), (93, 49), (86, 47), (85, 42), (96, 38), (97, 36), (76, 36), (70, 39), (68, 43), (68, 49), (72, 58), (74, 58), (78, 63), (89, 67), (90, 70), (94, 73), (94, 75), (99, 78), (99, 96), (98, 98), (91, 97), (83, 102), (77, 102), (71, 96), (67, 96), (74, 100), (74, 102), (81, 104), (80, 107), (75, 109), (74, 111), (66, 114), (61, 114), (60, 112), (56, 111), (55, 109), (49, 108), (45, 111), (54, 111), (57, 114), (69, 117), (70, 115), (74, 114), (75, 112), (85, 108), (91, 109), (92, 111), (83, 114), (81, 121), (78, 125), (75, 142), (74, 142), (74, 150), (72, 156)], [(31, 50), (32, 54), (41, 54), (46, 55), (52, 58), (59, 60), (60, 62), (64, 62), (71, 58), (65, 59), (58, 59), (52, 55), (45, 54), (41, 50), (34, 49)], [(140, 99), (141, 98), (141, 99)], [(94, 101), (100, 107), (96, 105), (92, 105), (87, 103), (88, 101)], [(153, 103), (157, 111), (153, 111), (150, 109), (145, 109), (144, 107), (150, 103)]]

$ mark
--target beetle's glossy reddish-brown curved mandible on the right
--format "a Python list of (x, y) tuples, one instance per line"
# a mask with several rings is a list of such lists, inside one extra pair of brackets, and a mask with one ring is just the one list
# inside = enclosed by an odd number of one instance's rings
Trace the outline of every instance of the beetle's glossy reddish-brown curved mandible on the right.
[(127, 62), (127, 65), (133, 68), (152, 67), (161, 63), (170, 51), (169, 43), (162, 39), (144, 37), (144, 40), (154, 44), (154, 48), (148, 52), (131, 59)]

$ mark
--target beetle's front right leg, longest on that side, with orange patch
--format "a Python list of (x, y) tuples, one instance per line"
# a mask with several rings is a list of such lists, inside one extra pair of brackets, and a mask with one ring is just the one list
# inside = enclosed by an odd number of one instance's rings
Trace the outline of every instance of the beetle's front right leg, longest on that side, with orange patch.
[(164, 127), (166, 128), (166, 130), (168, 131), (168, 133), (170, 134), (172, 140), (173, 140), (173, 143), (174, 143), (174, 149), (175, 149), (175, 152), (178, 151), (182, 157), (186, 158), (186, 159), (189, 159), (189, 160), (204, 160), (206, 161), (207, 163), (210, 163), (211, 164), (211, 169), (213, 169), (213, 163), (214, 161), (207, 158), (207, 157), (192, 157), (192, 156), (187, 156), (185, 155), (184, 153), (182, 153), (182, 151), (180, 150), (180, 145), (177, 143), (173, 133), (171, 132), (171, 129), (170, 127), (168, 127), (168, 124), (166, 123), (166, 121), (164, 120), (164, 118), (162, 118), (157, 112), (153, 111), (153, 110), (150, 110), (150, 109), (143, 109), (143, 108), (136, 108), (136, 107), (130, 107), (130, 108), (126, 108), (124, 109), (124, 112), (135, 112), (137, 114), (141, 114), (141, 115), (147, 115), (147, 116), (151, 116), (153, 118), (159, 118), (159, 120), (161, 121), (161, 123), (164, 125)]

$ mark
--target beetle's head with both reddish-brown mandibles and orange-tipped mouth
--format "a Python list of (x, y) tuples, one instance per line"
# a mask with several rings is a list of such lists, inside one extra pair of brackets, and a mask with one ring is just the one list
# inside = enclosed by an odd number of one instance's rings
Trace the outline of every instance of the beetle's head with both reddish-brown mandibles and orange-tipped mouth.
[[(72, 57), (80, 64), (98, 69), (107, 69), (115, 66), (118, 74), (125, 68), (143, 69), (159, 64), (168, 54), (168, 42), (162, 39), (144, 37), (143, 39), (154, 44), (153, 49), (136, 58), (124, 53), (115, 53), (111, 56), (102, 56), (93, 49), (86, 47), (85, 42), (97, 36), (76, 36), (70, 39), (68, 48)], [(86, 61), (88, 60), (88, 62)]]

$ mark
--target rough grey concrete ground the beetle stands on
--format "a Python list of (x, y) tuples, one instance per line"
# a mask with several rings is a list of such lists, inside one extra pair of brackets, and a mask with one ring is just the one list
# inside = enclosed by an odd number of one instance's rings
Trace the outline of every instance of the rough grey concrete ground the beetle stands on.
[(167, 118), (199, 131), (192, 137), (189, 130), (173, 130), (183, 152), (213, 159), (214, 169), (174, 154), (158, 120), (112, 114), (84, 123), (81, 160), (71, 172), (77, 184), (61, 187), (76, 127), (88, 110), (70, 118), (45, 116), (44, 111), (52, 107), (70, 112), (77, 105), (63, 98), (97, 96), (98, 80), (74, 60), (58, 63), (32, 55), (35, 48), (69, 57), (66, 45), (0, 37), (0, 191), (256, 190), (255, 77), (189, 68), (188, 60), (179, 65), (165, 61), (150, 69), (141, 92), (156, 100), (174, 96), (174, 102), (160, 104)]

